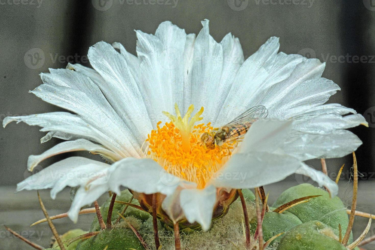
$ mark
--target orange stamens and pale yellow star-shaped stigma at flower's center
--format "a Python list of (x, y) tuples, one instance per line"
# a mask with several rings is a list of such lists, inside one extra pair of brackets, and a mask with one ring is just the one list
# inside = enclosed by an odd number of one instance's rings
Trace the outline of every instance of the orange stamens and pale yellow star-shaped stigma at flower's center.
[[(187, 181), (195, 182), (198, 188), (204, 188), (215, 172), (229, 159), (236, 142), (224, 143), (220, 147), (207, 149), (201, 142), (204, 133), (212, 133), (211, 123), (197, 124), (203, 119), (200, 115), (203, 107), (190, 117), (194, 106), (190, 105), (184, 117), (175, 104), (176, 116), (163, 112), (171, 121), (148, 134), (147, 157), (154, 159), (168, 173)], [(189, 120), (190, 118), (190, 120)]]

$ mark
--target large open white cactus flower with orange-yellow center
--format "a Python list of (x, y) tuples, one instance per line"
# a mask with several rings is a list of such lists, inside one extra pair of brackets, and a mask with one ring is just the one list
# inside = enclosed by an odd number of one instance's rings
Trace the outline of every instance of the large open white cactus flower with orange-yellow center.
[[(155, 35), (136, 31), (137, 56), (119, 43), (98, 42), (88, 54), (93, 69), (69, 64), (42, 73), (43, 84), (31, 92), (74, 114), (4, 119), (4, 127), (11, 121), (42, 127), (48, 132), (42, 142), (67, 140), (30, 156), (28, 169), (77, 150), (101, 154), (110, 164), (70, 157), (22, 181), (17, 190), (51, 188), (55, 198), (64, 187), (79, 186), (69, 210), (74, 221), (81, 207), (108, 190), (119, 193), (120, 186), (160, 193), (172, 222), (184, 218), (204, 230), (221, 190), (259, 187), (299, 173), (335, 195), (335, 182), (303, 162), (355, 151), (362, 142), (345, 129), (367, 123), (353, 109), (324, 104), (340, 90), (321, 77), (325, 64), (278, 52), (276, 37), (244, 60), (239, 39), (229, 33), (217, 43), (208, 20), (202, 24), (196, 36), (163, 22)], [(258, 105), (268, 116), (255, 121), (242, 140), (213, 149), (201, 143), (204, 132)], [(191, 116), (194, 106), (203, 107), (203, 114), (201, 109)]]

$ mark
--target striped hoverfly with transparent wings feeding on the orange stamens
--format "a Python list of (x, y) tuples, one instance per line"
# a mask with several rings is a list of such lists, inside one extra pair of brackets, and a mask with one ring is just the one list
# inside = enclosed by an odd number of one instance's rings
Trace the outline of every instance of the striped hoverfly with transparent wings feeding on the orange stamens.
[(245, 135), (256, 120), (266, 118), (267, 115), (268, 110), (265, 106), (252, 107), (219, 129), (210, 133), (203, 133), (201, 142), (206, 148), (211, 150), (216, 145), (220, 147), (224, 142), (232, 141)]

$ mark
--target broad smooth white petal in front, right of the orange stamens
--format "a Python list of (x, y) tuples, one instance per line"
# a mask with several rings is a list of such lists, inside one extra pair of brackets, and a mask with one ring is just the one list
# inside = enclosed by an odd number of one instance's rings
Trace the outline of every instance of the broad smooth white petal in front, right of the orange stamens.
[(284, 180), (300, 167), (300, 160), (284, 154), (251, 152), (234, 154), (215, 173), (211, 184), (232, 189), (255, 188)]

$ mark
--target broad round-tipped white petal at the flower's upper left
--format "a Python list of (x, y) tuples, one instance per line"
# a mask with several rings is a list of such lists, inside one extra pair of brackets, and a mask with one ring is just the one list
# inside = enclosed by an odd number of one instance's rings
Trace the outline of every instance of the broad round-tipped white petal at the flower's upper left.
[(124, 56), (105, 42), (90, 47), (88, 57), (90, 64), (105, 80), (95, 83), (121, 119), (132, 127), (136, 137), (144, 140), (152, 129), (150, 115), (153, 114), (145, 106), (147, 96), (140, 88), (141, 82), (135, 79), (134, 67), (129, 66)]

